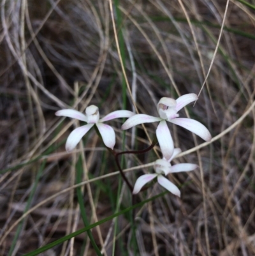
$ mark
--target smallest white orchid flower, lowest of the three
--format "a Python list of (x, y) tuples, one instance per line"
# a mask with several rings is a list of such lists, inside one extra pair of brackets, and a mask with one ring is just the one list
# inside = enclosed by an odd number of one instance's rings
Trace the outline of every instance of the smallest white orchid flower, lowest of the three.
[(156, 171), (156, 174), (144, 174), (136, 180), (133, 194), (139, 193), (142, 187), (146, 184), (152, 181), (155, 177), (157, 177), (157, 182), (161, 184), (166, 190), (173, 193), (174, 195), (177, 195), (180, 197), (180, 190), (175, 186), (175, 184), (171, 183), (168, 179), (166, 179), (164, 175), (174, 173), (174, 172), (189, 172), (191, 170), (194, 170), (198, 167), (198, 165), (195, 165), (193, 163), (177, 163), (177, 165), (171, 166), (170, 162), (177, 156), (177, 154), (180, 153), (180, 149), (174, 149), (173, 154), (170, 158), (170, 160), (166, 160), (165, 158), (156, 160), (154, 163), (154, 170)]

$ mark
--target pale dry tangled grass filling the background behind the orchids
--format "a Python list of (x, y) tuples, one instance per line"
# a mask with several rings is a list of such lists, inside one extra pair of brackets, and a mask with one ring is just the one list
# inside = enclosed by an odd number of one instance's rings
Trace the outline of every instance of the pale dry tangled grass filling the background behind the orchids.
[[(64, 144), (47, 154), (45, 150), (80, 125), (55, 117), (55, 110), (84, 111), (94, 104), (100, 105), (103, 116), (122, 109), (123, 80), (128, 109), (153, 116), (162, 96), (177, 98), (201, 91), (196, 105), (180, 114), (203, 122), (213, 137), (203, 143), (171, 126), (175, 146), (184, 151), (174, 162), (198, 163), (200, 169), (169, 177), (179, 184), (180, 199), (168, 193), (136, 210), (136, 253), (255, 254), (254, 40), (222, 29), (226, 25), (254, 33), (254, 13), (247, 6), (237, 1), (127, 0), (120, 3), (122, 23), (118, 24), (116, 19), (113, 22), (112, 0), (3, 0), (1, 4), (0, 168), (43, 157), (0, 176), (0, 255), (10, 252), (22, 220), (11, 255), (31, 252), (84, 227), (77, 186), (84, 190), (91, 223), (114, 213), (110, 196), (117, 193), (119, 172), (94, 132), (86, 135), (85, 146), (80, 144), (71, 154), (64, 151)], [(219, 28), (198, 26), (194, 20)], [(125, 61), (119, 57), (122, 45)], [(121, 149), (121, 122), (114, 124), (116, 148)], [(147, 146), (155, 127), (140, 126), (136, 138), (135, 130), (128, 130), (126, 149), (133, 148), (135, 141), (140, 148)], [(75, 184), (81, 152), (84, 179)], [(158, 147), (155, 152), (161, 155)], [(135, 183), (157, 157), (150, 153), (126, 159), (126, 175)], [(43, 175), (24, 214), (43, 160)], [(138, 200), (162, 191), (156, 185)], [(128, 194), (123, 186), (115, 211), (130, 205)], [(135, 253), (126, 216), (98, 226), (92, 234), (104, 255)], [(82, 247), (83, 255), (95, 255), (86, 237), (77, 236), (44, 255), (81, 255)]]

